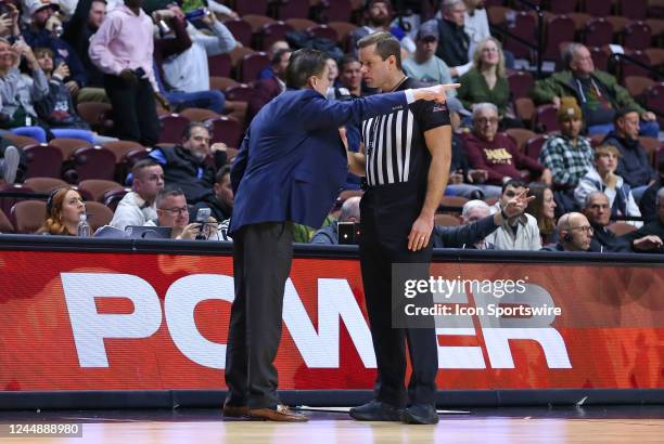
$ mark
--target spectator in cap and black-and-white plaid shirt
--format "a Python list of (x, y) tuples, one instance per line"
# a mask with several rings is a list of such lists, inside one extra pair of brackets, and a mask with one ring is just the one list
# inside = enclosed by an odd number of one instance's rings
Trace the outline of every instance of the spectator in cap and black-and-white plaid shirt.
[(557, 115), (560, 134), (547, 139), (539, 153), (539, 162), (551, 170), (561, 212), (570, 212), (580, 208), (574, 199), (574, 188), (592, 169), (593, 153), (590, 142), (579, 136), (583, 116), (576, 100), (563, 97)]

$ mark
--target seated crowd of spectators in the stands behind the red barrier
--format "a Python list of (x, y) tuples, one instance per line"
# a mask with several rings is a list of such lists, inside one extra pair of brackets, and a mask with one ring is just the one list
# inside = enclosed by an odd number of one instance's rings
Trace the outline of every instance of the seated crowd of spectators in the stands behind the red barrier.
[[(81, 146), (113, 151), (118, 141), (133, 143), (133, 152), (114, 152), (117, 183), (103, 196), (114, 192), (115, 198), (104, 197), (111, 213), (89, 221), (93, 231), (123, 237), (137, 226), (161, 227), (166, 231), (154, 228), (155, 235), (232, 241), (230, 168), (242, 131), (231, 142), (228, 127), (217, 129), (214, 120), (246, 129), (285, 90), (285, 67), (303, 37), (292, 32), (264, 41), (267, 35), (254, 30), (255, 48), (247, 48), (231, 31), (243, 19), (229, 8), (238, 2), (189, 3), (212, 12), (188, 14), (168, 0), (0, 3), (4, 190), (29, 188), (22, 181), (35, 179), (30, 168), (39, 144), (60, 147), (59, 141), (76, 139)], [(527, 91), (532, 104), (553, 105), (554, 122), (542, 127), (516, 106), (510, 76), (532, 75), (514, 69), (519, 60), (503, 36), (491, 36), (484, 0), (442, 0), (429, 12), (420, 6), (430, 2), (406, 3), (407, 16), (391, 0), (367, 0), (348, 16), (354, 30), (330, 42), (327, 96), (354, 100), (381, 92), (365, 82), (355, 48), (375, 31), (399, 40), (409, 77), (461, 83), (447, 102), (454, 134), (440, 207), (458, 223), (447, 218), (435, 225), (434, 247), (664, 252), (664, 156), (657, 160), (651, 146), (660, 138), (657, 115), (621, 84), (620, 75), (597, 69), (580, 42), (562, 45), (560, 69)], [(247, 79), (243, 61), (254, 49), (267, 54), (259, 53), (264, 65)], [(210, 75), (224, 54), (233, 78)], [(86, 113), (89, 104), (105, 112)], [(174, 133), (166, 119), (173, 113), (191, 116), (179, 123), (180, 140), (165, 135)], [(357, 128), (341, 133), (352, 149), (361, 148)], [(63, 152), (62, 160), (58, 179), (65, 182), (36, 190), (38, 199), (48, 195), (46, 214), (30, 226), (40, 225), (39, 234), (76, 236), (91, 193), (78, 184), (73, 155)], [(360, 183), (349, 173), (324, 226), (298, 226), (295, 239), (335, 245), (340, 223), (361, 226)], [(524, 195), (529, 204), (521, 212), (514, 201)], [(20, 211), (2, 209), (18, 225)]]

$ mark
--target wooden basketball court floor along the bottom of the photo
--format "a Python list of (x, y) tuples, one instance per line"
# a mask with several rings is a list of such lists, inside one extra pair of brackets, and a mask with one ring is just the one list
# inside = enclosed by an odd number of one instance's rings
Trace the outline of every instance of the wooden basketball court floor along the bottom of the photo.
[[(225, 420), (217, 410), (13, 413), (15, 422), (77, 422), (82, 438), (0, 439), (22, 443), (662, 443), (664, 407), (482, 409), (440, 415), (436, 426), (357, 422), (343, 413), (307, 413), (307, 423)], [(7, 434), (5, 434), (7, 436)], [(65, 441), (66, 440), (66, 441)]]

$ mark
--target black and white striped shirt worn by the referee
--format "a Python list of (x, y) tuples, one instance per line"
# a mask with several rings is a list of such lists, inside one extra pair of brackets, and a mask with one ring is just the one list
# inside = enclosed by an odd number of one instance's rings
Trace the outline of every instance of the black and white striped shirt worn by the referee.
[[(418, 81), (406, 78), (395, 91), (419, 87)], [(444, 125), (450, 125), (447, 107), (423, 101), (363, 120), (360, 133), (367, 154), (367, 184), (426, 182), (431, 154), (424, 132)]]

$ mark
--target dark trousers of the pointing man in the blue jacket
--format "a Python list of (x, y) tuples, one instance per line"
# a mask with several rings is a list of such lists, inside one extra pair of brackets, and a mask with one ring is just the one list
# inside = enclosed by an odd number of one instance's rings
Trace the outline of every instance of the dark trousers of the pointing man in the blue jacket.
[(235, 299), (226, 348), (226, 401), (231, 405), (270, 408), (280, 404), (273, 361), (292, 260), (290, 222), (250, 224), (233, 234)]

